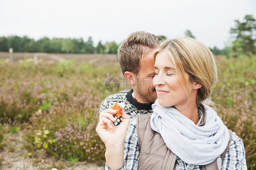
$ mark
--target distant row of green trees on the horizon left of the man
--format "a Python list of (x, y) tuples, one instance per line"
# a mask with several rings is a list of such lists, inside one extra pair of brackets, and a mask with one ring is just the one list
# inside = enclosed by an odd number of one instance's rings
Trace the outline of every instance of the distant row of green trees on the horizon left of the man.
[(118, 50), (118, 44), (106, 42), (104, 45), (100, 41), (96, 47), (93, 46), (92, 37), (87, 41), (70, 38), (43, 37), (37, 41), (27, 36), (8, 36), (0, 37), (0, 51), (9, 51), (13, 48), (15, 52), (39, 52), (39, 53), (108, 53), (115, 54)]

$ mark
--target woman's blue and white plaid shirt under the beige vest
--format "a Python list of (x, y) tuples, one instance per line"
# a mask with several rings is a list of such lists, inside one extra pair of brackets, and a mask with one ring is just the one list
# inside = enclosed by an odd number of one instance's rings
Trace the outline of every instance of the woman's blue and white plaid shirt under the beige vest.
[[(199, 110), (200, 120), (202, 120), (202, 111)], [(138, 134), (137, 134), (137, 120), (136, 117), (131, 118), (129, 128), (126, 134), (126, 139), (124, 141), (124, 165), (117, 170), (137, 170), (140, 151), (138, 149)], [(174, 170), (202, 170), (200, 165), (192, 165), (183, 162), (179, 157), (177, 157), (174, 164)], [(222, 162), (221, 170), (245, 170), (246, 159), (245, 150), (243, 146), (243, 141), (240, 139), (235, 132), (232, 132), (232, 141), (230, 143), (229, 150), (227, 151), (224, 161)], [(105, 170), (112, 170), (105, 164)]]

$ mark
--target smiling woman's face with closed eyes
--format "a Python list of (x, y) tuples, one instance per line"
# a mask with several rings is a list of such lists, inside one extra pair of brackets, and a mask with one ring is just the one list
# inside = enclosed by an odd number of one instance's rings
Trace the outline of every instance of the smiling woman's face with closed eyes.
[[(157, 54), (154, 69), (153, 85), (157, 91), (158, 103), (163, 107), (173, 106), (176, 109), (186, 106), (188, 104), (187, 93), (182, 88), (174, 63), (166, 52)], [(188, 74), (186, 76), (188, 78)], [(192, 83), (190, 87), (192, 93)]]

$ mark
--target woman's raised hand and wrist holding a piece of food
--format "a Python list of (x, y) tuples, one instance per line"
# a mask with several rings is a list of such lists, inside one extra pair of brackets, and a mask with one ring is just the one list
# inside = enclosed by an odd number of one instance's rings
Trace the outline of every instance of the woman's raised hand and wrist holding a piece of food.
[(115, 126), (116, 114), (114, 109), (111, 109), (111, 105), (107, 110), (100, 113), (99, 123), (96, 127), (96, 132), (106, 145), (105, 158), (106, 163), (111, 169), (118, 169), (124, 164), (124, 140), (127, 129), (129, 127), (130, 116), (121, 113), (123, 121), (120, 125)]

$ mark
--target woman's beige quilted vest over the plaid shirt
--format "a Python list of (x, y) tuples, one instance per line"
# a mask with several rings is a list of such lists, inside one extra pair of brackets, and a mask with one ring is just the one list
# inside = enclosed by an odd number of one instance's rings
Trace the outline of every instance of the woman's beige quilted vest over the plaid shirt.
[[(204, 111), (205, 113), (205, 111)], [(150, 114), (137, 115), (138, 145), (140, 150), (138, 170), (161, 169), (172, 170), (177, 156), (166, 146), (162, 136), (155, 132), (150, 126)], [(205, 123), (203, 115), (201, 126)], [(223, 162), (230, 142), (232, 132), (230, 132), (230, 141), (226, 150), (221, 154)], [(210, 164), (202, 166), (205, 170), (218, 170), (217, 159)]]

